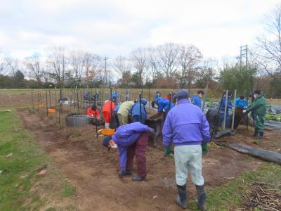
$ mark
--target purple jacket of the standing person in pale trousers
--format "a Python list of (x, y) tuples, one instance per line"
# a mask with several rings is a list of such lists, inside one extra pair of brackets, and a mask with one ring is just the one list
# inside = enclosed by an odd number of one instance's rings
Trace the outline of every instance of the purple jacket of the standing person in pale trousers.
[(181, 100), (166, 116), (162, 134), (164, 146), (200, 145), (210, 140), (209, 122), (198, 106)]

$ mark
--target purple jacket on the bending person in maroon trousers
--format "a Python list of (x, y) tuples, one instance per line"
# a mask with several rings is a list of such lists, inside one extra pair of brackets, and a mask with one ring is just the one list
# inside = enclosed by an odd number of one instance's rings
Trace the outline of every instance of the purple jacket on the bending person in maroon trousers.
[(114, 135), (112, 135), (112, 140), (118, 146), (119, 150), (119, 167), (120, 170), (126, 170), (126, 160), (127, 160), (127, 148), (131, 146), (138, 140), (143, 132), (149, 132), (150, 127), (141, 122), (133, 122), (131, 124), (124, 124), (118, 127)]

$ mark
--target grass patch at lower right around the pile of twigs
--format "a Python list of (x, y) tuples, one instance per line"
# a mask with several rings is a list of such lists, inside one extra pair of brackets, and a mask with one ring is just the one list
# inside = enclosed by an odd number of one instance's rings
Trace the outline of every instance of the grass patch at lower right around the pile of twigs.
[[(209, 189), (207, 191), (208, 210), (239, 210), (244, 203), (249, 203), (244, 195), (250, 194), (250, 187), (255, 184), (266, 184), (266, 188), (275, 189), (276, 193), (281, 196), (281, 166), (267, 164), (261, 169), (244, 172), (240, 177), (223, 186)], [(190, 202), (190, 209), (197, 210), (194, 201)], [(249, 207), (246, 210), (250, 210)], [(252, 210), (261, 209), (252, 207)]]

